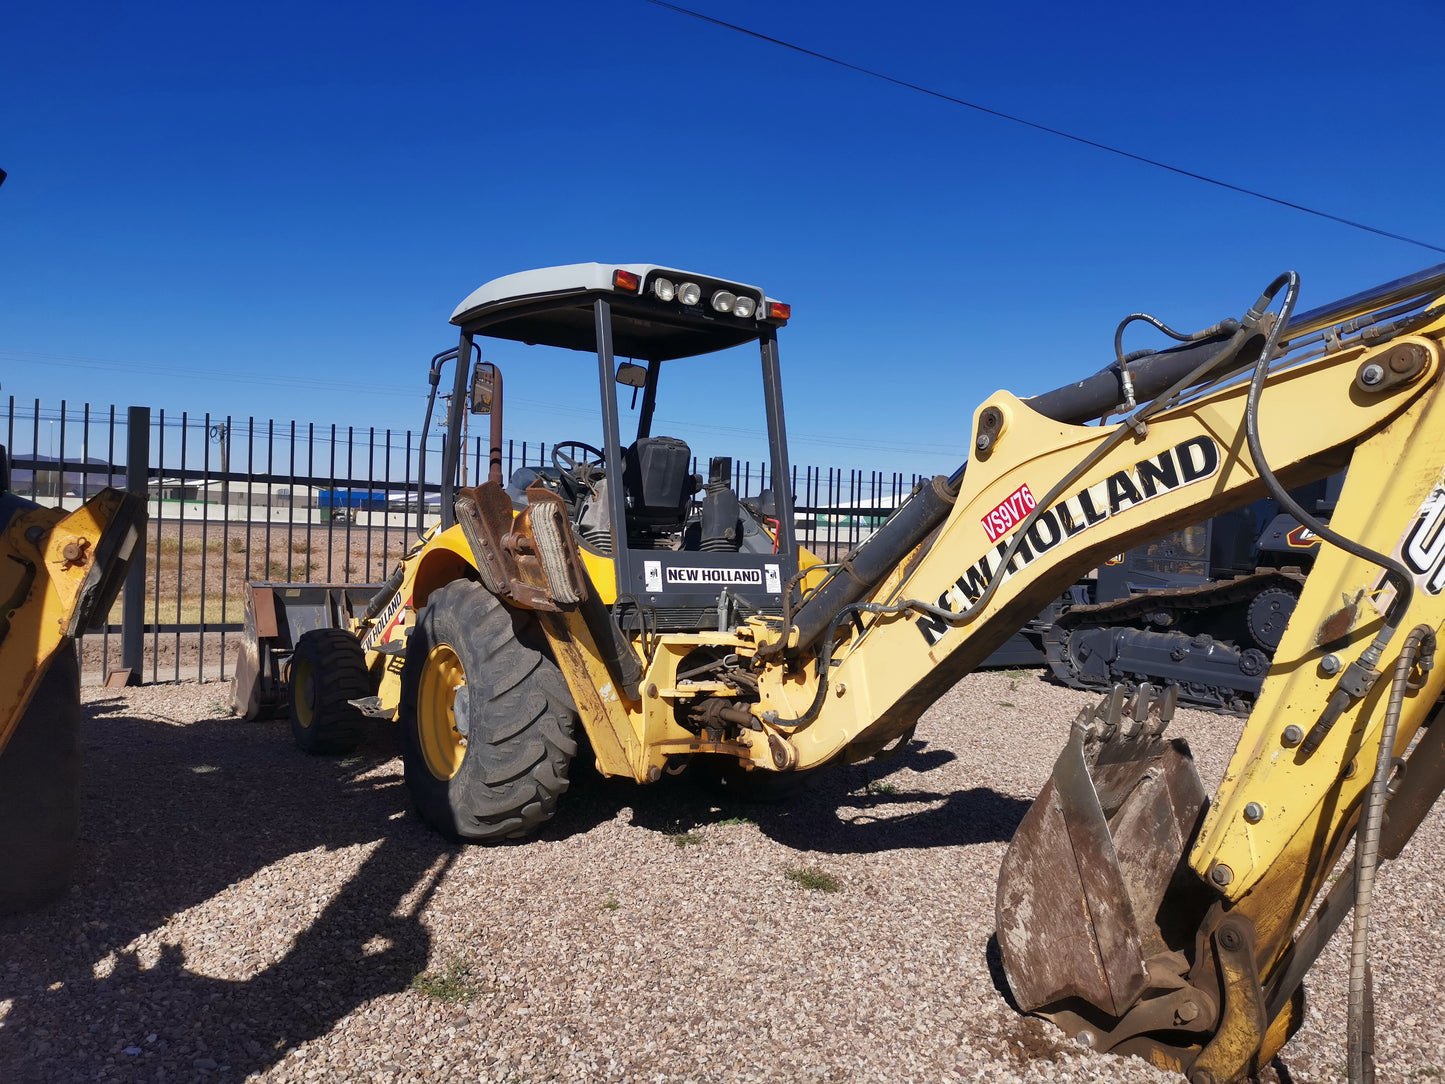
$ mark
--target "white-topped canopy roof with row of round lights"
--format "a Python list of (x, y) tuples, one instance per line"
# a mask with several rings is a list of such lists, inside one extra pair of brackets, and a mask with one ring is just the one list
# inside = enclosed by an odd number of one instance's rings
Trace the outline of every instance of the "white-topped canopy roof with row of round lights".
[(569, 263), (493, 279), (457, 306), (451, 322), (491, 338), (591, 351), (598, 298), (611, 308), (613, 354), (643, 361), (751, 343), (789, 315), (756, 286), (653, 263)]

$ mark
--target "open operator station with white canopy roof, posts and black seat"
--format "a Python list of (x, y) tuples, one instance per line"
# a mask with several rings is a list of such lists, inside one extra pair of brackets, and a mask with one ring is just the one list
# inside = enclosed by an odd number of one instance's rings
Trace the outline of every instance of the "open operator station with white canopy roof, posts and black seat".
[[(562, 497), (584, 558), (611, 562), (592, 571), (604, 601), (633, 600), (618, 617), (624, 629), (637, 626), (643, 610), (649, 627), (683, 632), (724, 627), (737, 607), (782, 613), (782, 588), (799, 561), (790, 487), (770, 484), (789, 477), (777, 357), (777, 330), (789, 315), (788, 305), (756, 286), (652, 263), (574, 263), (506, 275), (452, 312), (461, 357), (471, 357), (474, 340), (483, 337), (597, 356), (600, 447), (553, 444), (551, 468), (525, 467), (507, 491), (519, 510), (530, 481)], [(751, 344), (760, 361), (756, 384), (741, 379), (731, 350), (747, 353)], [(618, 367), (621, 358), (642, 364)], [(698, 360), (663, 364), (678, 358)], [(657, 418), (665, 369), (676, 393), (666, 416)], [(626, 409), (618, 384), (633, 392)], [(460, 380), (457, 395), (464, 389)], [(636, 419), (636, 436), (626, 445), (624, 416)], [(655, 421), (670, 435), (656, 435)], [(705, 476), (694, 473), (696, 448), (715, 444), (724, 431), (746, 441), (766, 434), (766, 471), (759, 464), (753, 473), (749, 464), (734, 478), (734, 457), (712, 455)], [(571, 454), (561, 455), (566, 448)], [(578, 454), (587, 461), (577, 461)]]

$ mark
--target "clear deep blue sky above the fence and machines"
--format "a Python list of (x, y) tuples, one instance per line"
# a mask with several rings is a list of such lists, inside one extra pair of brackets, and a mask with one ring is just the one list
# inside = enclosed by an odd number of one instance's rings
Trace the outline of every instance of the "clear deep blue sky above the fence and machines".
[[(1435, 0), (692, 6), (1445, 246)], [(978, 400), (1097, 370), (1129, 312), (1194, 328), (1287, 267), (1308, 308), (1445, 262), (644, 0), (14, 9), (0, 168), (25, 409), (416, 428), (475, 286), (636, 260), (790, 302), (793, 458), (889, 471), (951, 470)], [(491, 356), (509, 435), (597, 442), (585, 357)], [(754, 454), (754, 397), (720, 387), (673, 403), (705, 406), (704, 454)]]

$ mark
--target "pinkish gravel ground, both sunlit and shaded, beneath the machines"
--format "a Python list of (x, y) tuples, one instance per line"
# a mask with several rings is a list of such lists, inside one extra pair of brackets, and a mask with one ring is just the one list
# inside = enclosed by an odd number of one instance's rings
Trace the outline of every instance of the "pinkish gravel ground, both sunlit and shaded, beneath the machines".
[[(87, 697), (78, 885), (0, 919), (3, 1081), (1179, 1080), (1009, 1006), (998, 863), (1094, 700), (1035, 674), (968, 678), (900, 759), (786, 804), (587, 773), (509, 847), (426, 831), (386, 728), (311, 759), (223, 684)], [(1173, 733), (1212, 786), (1238, 721)], [(1381, 1081), (1445, 1072), (1442, 843), (1436, 811), (1381, 876)], [(1266, 1081), (1342, 1078), (1344, 950)]]

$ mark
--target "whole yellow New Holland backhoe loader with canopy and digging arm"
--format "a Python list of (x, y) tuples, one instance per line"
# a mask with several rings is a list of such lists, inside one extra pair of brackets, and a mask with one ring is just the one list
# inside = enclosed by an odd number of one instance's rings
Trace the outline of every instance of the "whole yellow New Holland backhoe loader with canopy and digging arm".
[[(332, 601), (324, 645), (276, 648), (299, 728), (394, 717), (420, 815), (480, 840), (552, 815), (584, 733), (604, 775), (640, 783), (699, 759), (788, 775), (887, 756), (1084, 572), (1273, 499), (1321, 549), (1224, 783), (1208, 796), (1168, 736), (1178, 687), (1111, 691), (1075, 720), (1010, 844), (998, 945), (1025, 1012), (1224, 1084), (1286, 1042), (1305, 973), (1353, 911), (1364, 1078), (1376, 870), (1445, 785), (1445, 726), (1426, 726), (1445, 685), (1445, 266), (1308, 312), (1298, 296), (1282, 275), (1168, 348), (1124, 356), (1116, 337), (1110, 364), (1058, 390), (998, 392), (971, 415), (942, 403), (968, 461), (819, 565), (786, 487), (744, 502), (718, 470), (696, 499), (682, 449), (652, 434), (665, 376), (753, 344), (785, 478), (785, 306), (652, 264), (494, 280), (452, 315), (454, 402), (483, 340), (569, 347), (597, 361), (601, 444), (510, 487), (497, 471), (457, 487), (452, 436), (442, 523), (368, 600)], [(731, 396), (744, 373), (730, 374)], [(629, 444), (618, 379), (643, 397)], [(1328, 525), (1290, 497), (1345, 468)]]

